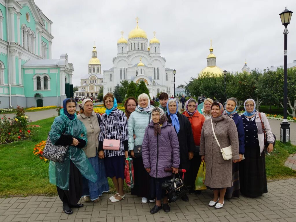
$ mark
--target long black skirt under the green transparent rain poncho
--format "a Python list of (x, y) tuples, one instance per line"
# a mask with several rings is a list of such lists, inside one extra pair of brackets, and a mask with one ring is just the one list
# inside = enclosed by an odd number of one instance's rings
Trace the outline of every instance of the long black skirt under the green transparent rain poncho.
[(57, 193), (63, 203), (76, 205), (82, 196), (82, 175), (75, 164), (70, 160), (69, 190), (62, 190), (57, 186)]

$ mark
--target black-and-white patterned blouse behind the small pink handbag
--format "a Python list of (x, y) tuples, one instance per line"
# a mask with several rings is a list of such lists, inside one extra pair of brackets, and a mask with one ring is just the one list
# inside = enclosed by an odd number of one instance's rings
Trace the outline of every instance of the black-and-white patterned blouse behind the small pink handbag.
[(124, 141), (128, 141), (128, 121), (126, 115), (121, 110), (115, 108), (107, 115), (104, 113), (101, 119), (101, 133), (99, 141), (104, 139), (120, 139), (120, 150), (104, 150), (105, 157), (114, 157), (124, 155)]

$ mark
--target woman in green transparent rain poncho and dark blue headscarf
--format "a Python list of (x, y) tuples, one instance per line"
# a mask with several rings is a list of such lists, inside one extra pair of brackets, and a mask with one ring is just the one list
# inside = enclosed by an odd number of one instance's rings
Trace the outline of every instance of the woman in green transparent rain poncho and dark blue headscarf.
[(90, 181), (97, 180), (92, 165), (81, 149), (87, 143), (86, 128), (76, 118), (76, 108), (74, 99), (65, 99), (60, 115), (54, 119), (49, 132), (52, 144), (69, 146), (62, 163), (49, 163), (49, 182), (57, 186), (66, 214), (72, 214), (73, 207), (83, 207), (83, 204), (77, 204), (82, 196), (82, 175)]

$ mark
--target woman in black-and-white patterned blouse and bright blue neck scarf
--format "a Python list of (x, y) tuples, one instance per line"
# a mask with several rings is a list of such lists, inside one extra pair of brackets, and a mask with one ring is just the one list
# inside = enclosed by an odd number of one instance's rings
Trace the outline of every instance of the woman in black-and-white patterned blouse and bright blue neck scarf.
[[(106, 112), (101, 119), (99, 135), (99, 158), (104, 158), (106, 176), (110, 177), (116, 194), (110, 197), (111, 202), (118, 202), (126, 196), (123, 192), (124, 160), (128, 157), (128, 121), (126, 115), (118, 110), (116, 98), (107, 93), (103, 98)], [(119, 150), (103, 149), (104, 139), (120, 140)]]

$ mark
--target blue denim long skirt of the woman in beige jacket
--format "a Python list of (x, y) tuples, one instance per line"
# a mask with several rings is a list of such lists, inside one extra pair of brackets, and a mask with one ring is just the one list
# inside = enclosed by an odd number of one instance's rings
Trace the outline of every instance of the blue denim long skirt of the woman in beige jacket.
[(95, 183), (83, 177), (83, 196), (89, 196), (91, 200), (96, 200), (102, 196), (103, 192), (109, 191), (108, 179), (106, 177), (104, 159), (99, 159), (98, 155), (88, 158), (94, 168), (98, 179)]

